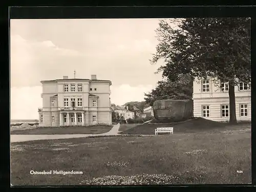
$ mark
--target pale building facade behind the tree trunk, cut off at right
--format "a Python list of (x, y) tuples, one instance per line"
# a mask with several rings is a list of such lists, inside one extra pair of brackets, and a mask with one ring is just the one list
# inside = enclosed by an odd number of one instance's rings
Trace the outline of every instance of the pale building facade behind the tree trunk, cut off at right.
[[(229, 121), (228, 83), (195, 79), (193, 84), (194, 116), (212, 121)], [(234, 87), (238, 121), (251, 121), (250, 85), (243, 82)]]

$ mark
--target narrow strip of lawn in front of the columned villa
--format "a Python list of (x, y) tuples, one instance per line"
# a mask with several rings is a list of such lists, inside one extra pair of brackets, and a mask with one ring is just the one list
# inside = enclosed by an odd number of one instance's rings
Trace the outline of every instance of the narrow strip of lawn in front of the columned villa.
[(38, 127), (35, 129), (27, 130), (15, 130), (11, 131), (13, 135), (22, 135), (22, 134), (100, 134), (109, 132), (113, 126), (108, 125), (96, 125), (88, 127)]

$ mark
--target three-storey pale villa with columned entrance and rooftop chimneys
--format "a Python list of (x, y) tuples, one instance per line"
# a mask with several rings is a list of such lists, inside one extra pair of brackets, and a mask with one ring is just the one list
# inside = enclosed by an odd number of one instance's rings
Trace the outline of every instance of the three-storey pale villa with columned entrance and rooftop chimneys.
[(109, 80), (63, 79), (41, 81), (39, 127), (112, 124)]

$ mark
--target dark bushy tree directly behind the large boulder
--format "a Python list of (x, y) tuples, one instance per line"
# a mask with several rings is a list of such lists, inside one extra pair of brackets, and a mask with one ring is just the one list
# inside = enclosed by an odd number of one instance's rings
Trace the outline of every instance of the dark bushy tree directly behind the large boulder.
[(183, 75), (176, 81), (159, 81), (150, 93), (144, 93), (146, 103), (153, 106), (156, 100), (191, 100), (193, 94), (193, 77)]

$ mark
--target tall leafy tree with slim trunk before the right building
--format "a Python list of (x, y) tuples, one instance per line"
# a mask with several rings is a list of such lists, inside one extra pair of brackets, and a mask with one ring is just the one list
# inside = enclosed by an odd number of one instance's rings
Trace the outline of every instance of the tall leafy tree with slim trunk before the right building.
[(236, 124), (234, 86), (251, 82), (250, 18), (186, 18), (160, 20), (159, 44), (152, 64), (175, 82), (181, 75), (214, 78), (229, 84), (229, 123)]

